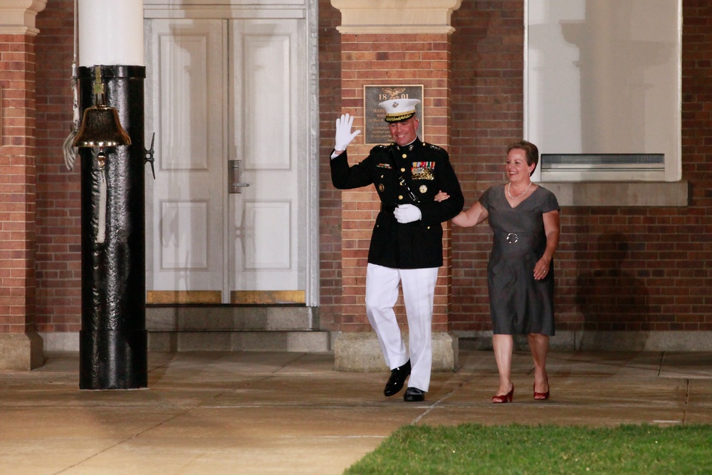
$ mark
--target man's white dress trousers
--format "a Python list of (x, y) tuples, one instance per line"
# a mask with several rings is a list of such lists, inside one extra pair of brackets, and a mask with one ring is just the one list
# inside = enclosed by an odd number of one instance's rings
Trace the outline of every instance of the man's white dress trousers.
[[(390, 369), (411, 364), (408, 387), (427, 392), (433, 362), (432, 321), (438, 268), (397, 269), (369, 263), (366, 268), (366, 315)], [(408, 320), (406, 350), (393, 306), (398, 285)], [(408, 354), (410, 353), (410, 355)]]

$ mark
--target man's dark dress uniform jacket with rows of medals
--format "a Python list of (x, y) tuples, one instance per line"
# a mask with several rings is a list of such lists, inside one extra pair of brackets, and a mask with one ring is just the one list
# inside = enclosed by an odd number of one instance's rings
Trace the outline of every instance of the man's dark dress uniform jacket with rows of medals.
[[(464, 205), (445, 150), (415, 140), (404, 147), (377, 145), (365, 160), (351, 167), (346, 152), (330, 163), (334, 187), (352, 189), (374, 184), (381, 199), (381, 212), (371, 235), (369, 263), (402, 269), (443, 265), (441, 223), (457, 216)], [(400, 177), (407, 187), (399, 184)], [(449, 194), (449, 199), (434, 201), (440, 190)], [(422, 219), (400, 224), (393, 215), (398, 204), (419, 207)]]

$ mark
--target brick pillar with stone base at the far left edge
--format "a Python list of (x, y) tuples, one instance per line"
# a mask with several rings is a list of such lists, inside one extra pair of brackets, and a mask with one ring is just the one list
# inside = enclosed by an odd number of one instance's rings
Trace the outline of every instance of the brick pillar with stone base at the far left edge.
[(0, 370), (42, 365), (35, 328), (35, 16), (0, 0)]

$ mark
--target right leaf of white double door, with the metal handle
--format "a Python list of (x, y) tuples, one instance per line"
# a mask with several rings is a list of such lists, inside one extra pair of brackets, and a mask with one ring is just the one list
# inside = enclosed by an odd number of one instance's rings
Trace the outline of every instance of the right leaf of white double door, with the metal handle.
[(305, 290), (301, 26), (231, 21), (231, 150), (250, 184), (229, 199), (232, 291)]

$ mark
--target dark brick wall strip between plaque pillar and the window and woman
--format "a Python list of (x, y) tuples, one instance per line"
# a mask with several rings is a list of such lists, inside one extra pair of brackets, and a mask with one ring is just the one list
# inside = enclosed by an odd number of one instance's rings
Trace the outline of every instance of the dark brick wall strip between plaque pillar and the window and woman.
[[(523, 130), (523, 2), (463, 2), (452, 16), (452, 162), (470, 207), (504, 180), (506, 145)], [(453, 229), (454, 330), (489, 330), (486, 225)]]

